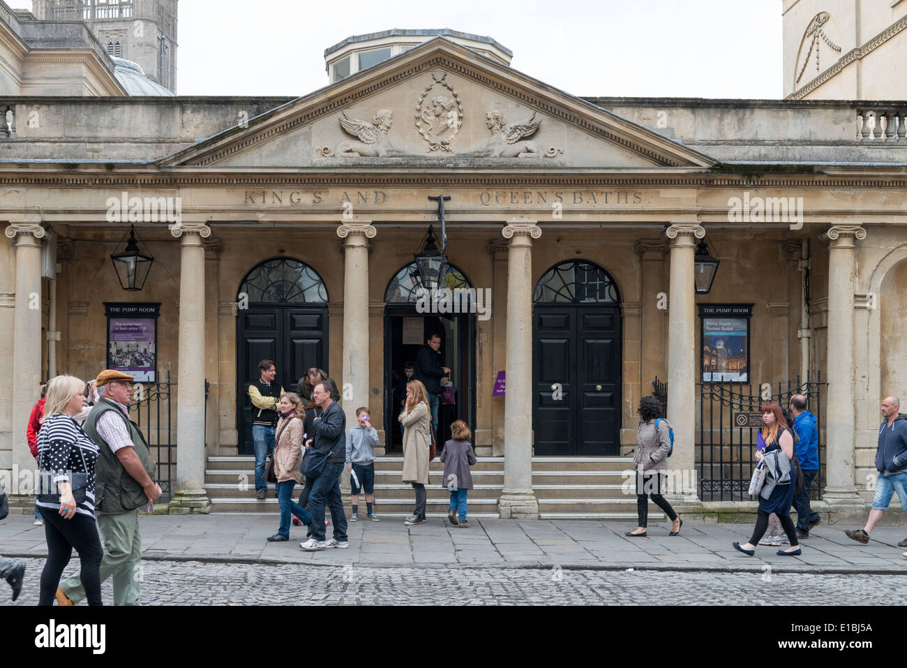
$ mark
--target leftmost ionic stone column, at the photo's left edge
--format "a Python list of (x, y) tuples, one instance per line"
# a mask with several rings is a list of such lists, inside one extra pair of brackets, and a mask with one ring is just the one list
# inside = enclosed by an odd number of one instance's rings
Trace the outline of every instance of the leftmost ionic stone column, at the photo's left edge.
[[(41, 239), (39, 221), (12, 222), (4, 231), (15, 239), (15, 307), (13, 312), (13, 478), (16, 470), (34, 470), (25, 427), (38, 398), (41, 378)], [(26, 476), (25, 479), (30, 479)], [(11, 495), (29, 490), (11, 484)]]

